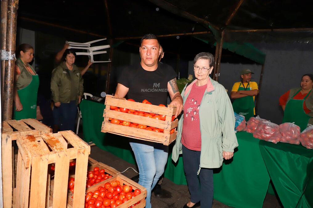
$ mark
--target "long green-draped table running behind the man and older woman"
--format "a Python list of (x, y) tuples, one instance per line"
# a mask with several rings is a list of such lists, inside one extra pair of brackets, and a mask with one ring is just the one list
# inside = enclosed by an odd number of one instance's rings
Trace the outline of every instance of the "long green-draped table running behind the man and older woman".
[[(84, 140), (93, 141), (105, 151), (136, 164), (128, 144), (128, 138), (101, 132), (104, 104), (83, 100), (80, 103)], [(246, 132), (237, 133), (239, 147), (233, 159), (225, 161), (222, 168), (214, 171), (214, 198), (228, 206), (262, 207), (269, 185), (269, 174), (259, 149), (259, 140)], [(169, 146), (168, 162), (164, 176), (176, 184), (187, 184), (182, 157), (172, 161)]]

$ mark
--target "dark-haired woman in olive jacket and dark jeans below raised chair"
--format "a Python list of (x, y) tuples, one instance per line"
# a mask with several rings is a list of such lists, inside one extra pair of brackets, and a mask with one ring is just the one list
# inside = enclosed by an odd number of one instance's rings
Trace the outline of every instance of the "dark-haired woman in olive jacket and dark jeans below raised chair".
[(61, 131), (74, 131), (77, 105), (84, 93), (84, 80), (74, 62), (75, 53), (67, 49), (64, 52), (64, 62), (52, 71), (50, 88)]

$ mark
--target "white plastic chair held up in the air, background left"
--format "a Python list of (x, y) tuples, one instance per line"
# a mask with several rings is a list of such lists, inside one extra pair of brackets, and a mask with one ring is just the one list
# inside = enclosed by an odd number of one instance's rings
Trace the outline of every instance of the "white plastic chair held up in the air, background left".
[(109, 61), (94, 61), (94, 55), (106, 53), (106, 51), (98, 51), (98, 50), (109, 48), (110, 45), (90, 47), (90, 44), (95, 43), (95, 42), (99, 42), (99, 41), (103, 41), (103, 40), (106, 40), (106, 38), (94, 40), (94, 41), (90, 41), (90, 42), (85, 42), (85, 43), (70, 42), (70, 41), (66, 41), (66, 43), (69, 44), (69, 47), (68, 47), (69, 49), (75, 48), (75, 49), (87, 50), (88, 52), (76, 52), (76, 55), (90, 56), (90, 61), (93, 63), (111, 62), (110, 60)]

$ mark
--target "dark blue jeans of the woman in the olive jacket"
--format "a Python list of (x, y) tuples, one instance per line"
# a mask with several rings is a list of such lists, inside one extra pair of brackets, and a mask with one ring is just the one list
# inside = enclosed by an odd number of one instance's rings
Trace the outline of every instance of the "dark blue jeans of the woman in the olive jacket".
[(55, 119), (59, 120), (60, 131), (72, 130), (75, 132), (75, 121), (77, 115), (76, 101), (61, 103), (60, 107), (54, 109)]

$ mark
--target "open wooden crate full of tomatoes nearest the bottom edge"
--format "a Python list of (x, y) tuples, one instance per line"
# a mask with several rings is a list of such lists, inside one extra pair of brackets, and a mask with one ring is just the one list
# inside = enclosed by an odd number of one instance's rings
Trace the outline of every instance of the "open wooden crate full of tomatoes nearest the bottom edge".
[(89, 187), (86, 192), (85, 208), (146, 206), (146, 188), (121, 174)]

